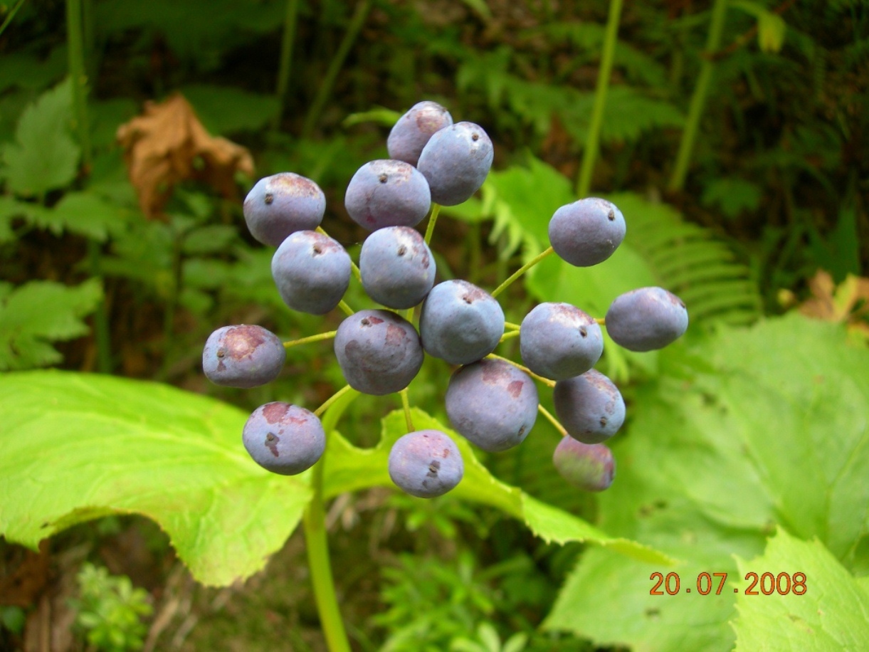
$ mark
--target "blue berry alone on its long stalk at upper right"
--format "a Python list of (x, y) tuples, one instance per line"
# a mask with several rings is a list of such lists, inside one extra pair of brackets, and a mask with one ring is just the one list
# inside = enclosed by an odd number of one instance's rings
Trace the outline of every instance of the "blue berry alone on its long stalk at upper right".
[(625, 218), (614, 203), (587, 197), (556, 210), (549, 220), (555, 253), (576, 267), (590, 267), (613, 255), (625, 238)]

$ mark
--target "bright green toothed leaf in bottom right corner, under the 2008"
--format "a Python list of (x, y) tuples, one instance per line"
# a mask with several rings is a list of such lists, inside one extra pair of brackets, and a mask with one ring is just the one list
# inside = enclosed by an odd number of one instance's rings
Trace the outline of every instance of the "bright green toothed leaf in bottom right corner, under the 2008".
[[(740, 576), (754, 573), (769, 578), (754, 587), (756, 595), (740, 591), (733, 622), (737, 652), (791, 650), (826, 652), (869, 649), (869, 590), (857, 582), (817, 541), (804, 542), (779, 529), (766, 552), (752, 561), (740, 559)], [(779, 573), (786, 573), (788, 578)], [(802, 573), (794, 593), (793, 575)], [(770, 595), (763, 591), (776, 590)], [(778, 589), (785, 595), (779, 594)], [(802, 592), (801, 595), (799, 592)]]

